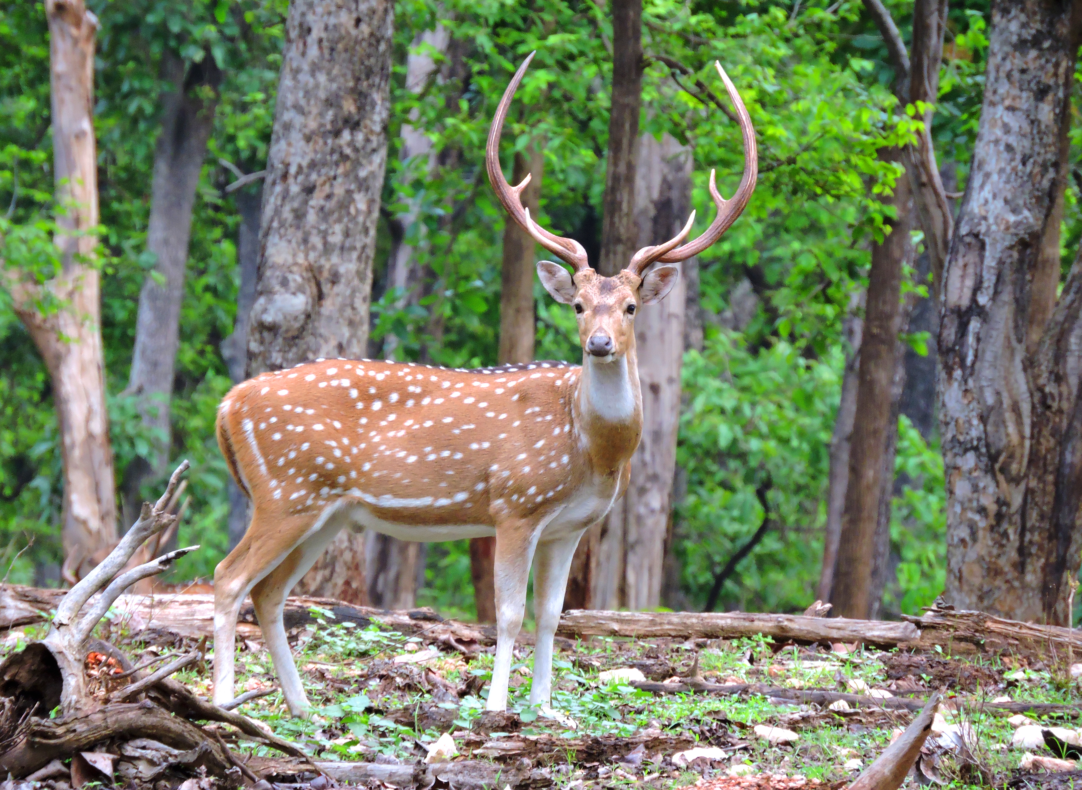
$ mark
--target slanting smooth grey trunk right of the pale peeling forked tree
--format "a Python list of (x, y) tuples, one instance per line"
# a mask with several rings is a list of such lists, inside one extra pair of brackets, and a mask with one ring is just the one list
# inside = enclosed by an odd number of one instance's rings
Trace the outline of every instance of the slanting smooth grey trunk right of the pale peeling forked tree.
[[(154, 457), (134, 459), (128, 465), (121, 486), (126, 523), (138, 516), (143, 484), (169, 471), (169, 405), (180, 342), (192, 212), (222, 81), (222, 74), (209, 54), (185, 68), (184, 61), (166, 53), (161, 70), (163, 81), (172, 88), (162, 95), (164, 111), (150, 187), (146, 246), (156, 263), (154, 276), (147, 276), (140, 291), (128, 381), (128, 392), (140, 401), (143, 427), (151, 434)], [(208, 88), (213, 98), (206, 97)]]

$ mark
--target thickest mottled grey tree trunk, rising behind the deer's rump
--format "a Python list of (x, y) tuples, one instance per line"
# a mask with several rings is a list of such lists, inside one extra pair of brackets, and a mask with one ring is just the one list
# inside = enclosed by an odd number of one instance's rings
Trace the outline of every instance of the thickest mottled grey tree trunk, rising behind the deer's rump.
[[(249, 322), (248, 374), (365, 355), (386, 164), (393, 5), (292, 3)], [(299, 590), (360, 602), (364, 536), (343, 530)]]

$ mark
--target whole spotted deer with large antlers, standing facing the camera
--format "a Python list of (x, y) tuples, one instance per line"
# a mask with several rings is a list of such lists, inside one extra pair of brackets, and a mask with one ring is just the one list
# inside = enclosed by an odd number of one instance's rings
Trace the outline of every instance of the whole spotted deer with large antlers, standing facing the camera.
[(532, 54), (503, 94), (488, 136), (489, 180), (511, 219), (571, 266), (538, 264), (545, 290), (573, 305), (582, 365), (533, 363), (479, 370), (369, 359), (317, 359), (262, 373), (222, 400), (217, 440), (252, 501), (251, 526), (214, 571), (214, 701), (233, 699), (238, 611), (251, 593), (286, 703), (307, 698), (282, 626), (286, 595), (342, 528), (401, 540), (496, 536), (497, 647), (488, 709), (507, 701), (512, 648), (533, 565), (537, 648), (530, 703), (547, 706), (552, 645), (571, 557), (588, 527), (628, 487), (643, 409), (635, 313), (665, 297), (684, 261), (714, 243), (751, 197), (755, 132), (717, 65), (737, 109), (744, 171), (725, 200), (714, 173), (717, 215), (697, 239), (679, 234), (646, 247), (615, 277), (586, 262), (582, 246), (538, 226), (499, 160), (500, 133)]

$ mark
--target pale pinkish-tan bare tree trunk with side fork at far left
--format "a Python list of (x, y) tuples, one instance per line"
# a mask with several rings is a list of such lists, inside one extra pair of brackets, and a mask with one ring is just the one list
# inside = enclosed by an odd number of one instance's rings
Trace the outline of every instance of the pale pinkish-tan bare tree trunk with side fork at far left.
[[(62, 266), (56, 277), (40, 286), (18, 272), (9, 271), (4, 279), (52, 382), (64, 465), (63, 577), (75, 582), (117, 540), (100, 279), (88, 260), (97, 247), (91, 232), (98, 222), (92, 117), (97, 18), (81, 0), (49, 0), (45, 14)], [(42, 311), (43, 300), (56, 308)]]

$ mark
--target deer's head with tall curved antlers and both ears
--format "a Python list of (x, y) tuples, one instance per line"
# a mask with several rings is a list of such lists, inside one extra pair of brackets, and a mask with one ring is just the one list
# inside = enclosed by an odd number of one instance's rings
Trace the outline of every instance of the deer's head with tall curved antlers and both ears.
[(486, 147), (488, 177), (511, 219), (539, 245), (571, 266), (572, 271), (569, 273), (558, 263), (541, 261), (538, 264), (538, 276), (553, 299), (575, 306), (579, 322), (579, 342), (584, 354), (595, 361), (609, 363), (625, 356), (628, 351), (634, 347), (634, 321), (639, 307), (664, 299), (679, 276), (679, 269), (675, 266), (656, 266), (649, 272), (647, 269), (658, 262), (677, 263), (702, 252), (722, 237), (748, 205), (758, 172), (755, 130), (752, 128), (751, 117), (740, 100), (740, 94), (722, 69), (722, 65), (715, 62), (717, 74), (725, 82), (729, 98), (737, 108), (743, 137), (744, 172), (736, 195), (725, 200), (717, 192), (714, 171), (711, 170), (710, 194), (717, 206), (717, 215), (710, 227), (694, 241), (681, 246), (695, 223), (692, 211), (687, 224), (674, 238), (661, 245), (644, 247), (632, 256), (626, 268), (615, 277), (605, 277), (590, 267), (582, 245), (575, 239), (550, 233), (530, 218), (530, 212), (523, 207), (520, 198), (523, 189), (530, 183), (530, 175), (527, 174), (518, 186), (511, 186), (503, 177), (499, 156), (503, 121), (511, 106), (511, 100), (535, 54), (531, 52), (518, 67), (497, 107)]

